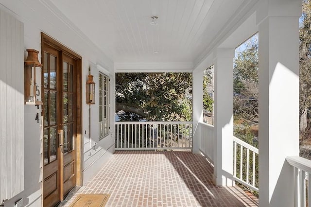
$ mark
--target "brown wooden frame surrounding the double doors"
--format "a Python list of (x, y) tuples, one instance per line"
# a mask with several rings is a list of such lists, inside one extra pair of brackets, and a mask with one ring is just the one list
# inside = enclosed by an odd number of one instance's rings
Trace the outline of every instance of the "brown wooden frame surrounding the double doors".
[[(82, 56), (73, 52), (57, 40), (53, 39), (51, 36), (41, 32), (41, 63), (43, 63), (43, 51), (45, 47), (52, 47), (58, 51), (63, 52), (64, 54), (68, 55), (69, 57), (76, 60), (76, 186), (81, 186), (83, 183), (83, 176), (82, 176), (82, 155), (83, 155), (83, 130), (82, 130)], [(41, 75), (41, 91), (43, 91), (43, 73)], [(42, 114), (43, 116), (43, 114)], [(42, 126), (43, 127), (43, 126)], [(43, 149), (43, 148), (42, 148)], [(43, 153), (42, 153), (43, 159)], [(42, 166), (42, 172), (43, 172)], [(42, 180), (42, 195), (43, 195), (43, 180)], [(43, 197), (42, 197), (43, 202)]]

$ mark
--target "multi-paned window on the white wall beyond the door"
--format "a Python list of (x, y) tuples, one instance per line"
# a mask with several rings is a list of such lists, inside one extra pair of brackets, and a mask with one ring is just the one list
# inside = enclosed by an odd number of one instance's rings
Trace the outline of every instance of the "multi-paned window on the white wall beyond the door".
[(99, 72), (99, 139), (109, 135), (109, 77)]

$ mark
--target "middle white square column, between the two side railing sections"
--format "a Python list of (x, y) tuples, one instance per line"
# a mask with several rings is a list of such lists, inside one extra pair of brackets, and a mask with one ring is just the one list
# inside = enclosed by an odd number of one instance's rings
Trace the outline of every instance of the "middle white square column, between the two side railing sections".
[(214, 174), (217, 186), (233, 180), (233, 58), (234, 49), (217, 49), (214, 59)]

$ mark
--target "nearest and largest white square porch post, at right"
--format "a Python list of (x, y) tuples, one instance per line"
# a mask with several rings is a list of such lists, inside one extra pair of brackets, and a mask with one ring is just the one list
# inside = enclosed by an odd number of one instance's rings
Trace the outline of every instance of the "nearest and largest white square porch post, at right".
[(259, 206), (293, 207), (299, 155), (299, 17), (301, 0), (266, 0), (259, 25)]

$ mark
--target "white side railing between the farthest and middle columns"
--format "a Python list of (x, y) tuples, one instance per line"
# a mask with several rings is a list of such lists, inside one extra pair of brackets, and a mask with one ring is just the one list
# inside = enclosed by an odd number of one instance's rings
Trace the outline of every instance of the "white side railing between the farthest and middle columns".
[(211, 163), (214, 163), (214, 126), (199, 122), (201, 137), (199, 150)]

